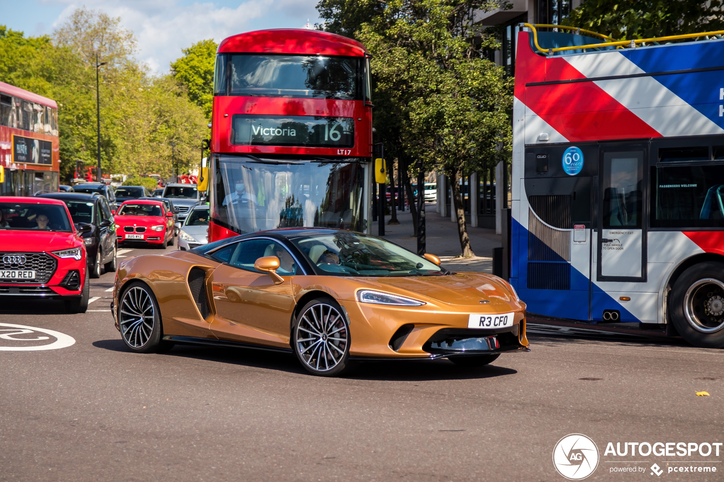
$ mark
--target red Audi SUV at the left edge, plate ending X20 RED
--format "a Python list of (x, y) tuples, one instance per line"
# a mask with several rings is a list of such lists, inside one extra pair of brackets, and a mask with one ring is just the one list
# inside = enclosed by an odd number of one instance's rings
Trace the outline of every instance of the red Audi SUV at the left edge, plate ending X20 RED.
[(81, 232), (62, 201), (0, 197), (0, 299), (59, 299), (68, 312), (85, 313), (90, 286)]

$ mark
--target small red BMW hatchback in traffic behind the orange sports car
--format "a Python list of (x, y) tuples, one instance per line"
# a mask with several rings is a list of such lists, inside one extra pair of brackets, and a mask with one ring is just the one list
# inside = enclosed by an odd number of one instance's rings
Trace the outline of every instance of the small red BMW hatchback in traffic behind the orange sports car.
[(164, 249), (174, 244), (174, 214), (161, 201), (126, 201), (115, 216), (118, 242), (140, 241)]

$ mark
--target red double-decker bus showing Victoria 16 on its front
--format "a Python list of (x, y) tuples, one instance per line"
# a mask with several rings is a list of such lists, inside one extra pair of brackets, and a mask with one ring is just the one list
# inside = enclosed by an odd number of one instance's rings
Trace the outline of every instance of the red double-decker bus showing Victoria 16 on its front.
[(294, 226), (369, 231), (369, 57), (356, 40), (318, 30), (222, 41), (199, 185), (209, 241)]

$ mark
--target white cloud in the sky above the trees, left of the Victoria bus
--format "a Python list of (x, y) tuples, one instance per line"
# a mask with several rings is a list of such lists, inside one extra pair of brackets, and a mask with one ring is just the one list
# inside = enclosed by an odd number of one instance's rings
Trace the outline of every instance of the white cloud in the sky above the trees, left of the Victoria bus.
[(174, 0), (56, 1), (66, 7), (54, 27), (83, 5), (120, 17), (122, 25), (138, 38), (138, 59), (161, 74), (168, 71), (171, 61), (182, 56), (182, 48), (198, 40), (213, 38), (219, 42), (236, 33), (301, 28), (307, 19), (311, 25), (319, 22), (315, 9), (318, 0), (246, 0), (231, 6)]

